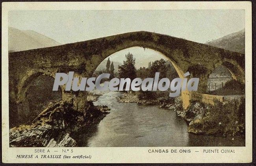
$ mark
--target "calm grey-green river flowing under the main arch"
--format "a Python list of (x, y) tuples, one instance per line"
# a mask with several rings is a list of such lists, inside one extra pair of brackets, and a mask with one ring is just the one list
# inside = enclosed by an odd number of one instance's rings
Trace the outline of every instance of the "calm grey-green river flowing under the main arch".
[[(94, 102), (111, 110), (89, 132), (79, 135), (83, 147), (139, 146), (244, 146), (241, 137), (215, 137), (187, 133), (187, 124), (176, 112), (158, 106), (122, 103), (121, 92), (106, 92)], [(234, 140), (232, 140), (234, 138)]]

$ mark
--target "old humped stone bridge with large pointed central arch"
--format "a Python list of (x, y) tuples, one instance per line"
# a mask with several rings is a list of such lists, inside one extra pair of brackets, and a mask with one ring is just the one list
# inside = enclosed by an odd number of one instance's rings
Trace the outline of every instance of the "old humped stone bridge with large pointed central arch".
[[(245, 83), (244, 54), (168, 35), (137, 31), (9, 53), (9, 100), (13, 104), (10, 104), (10, 113), (22, 104), (31, 81), (38, 76), (54, 77), (57, 72), (74, 71), (76, 76), (90, 77), (106, 57), (134, 46), (165, 55), (180, 77), (184, 77), (187, 71), (191, 74), (189, 77), (199, 77), (198, 93), (206, 93), (208, 77), (220, 65), (226, 66), (234, 79)], [(184, 108), (189, 105), (190, 98), (190, 92), (182, 92)], [(86, 93), (62, 90), (62, 100), (72, 102), (77, 110), (82, 110), (86, 105)]]

